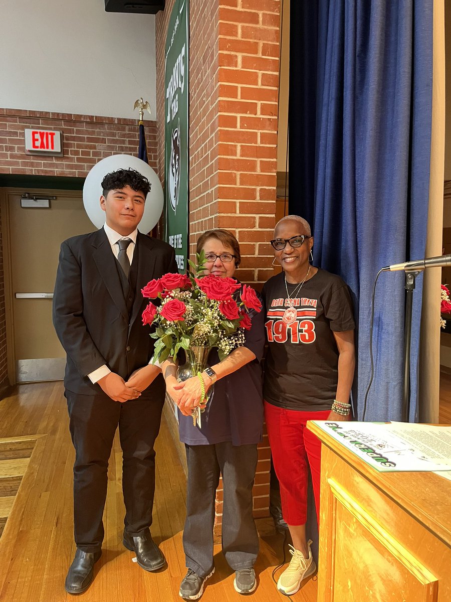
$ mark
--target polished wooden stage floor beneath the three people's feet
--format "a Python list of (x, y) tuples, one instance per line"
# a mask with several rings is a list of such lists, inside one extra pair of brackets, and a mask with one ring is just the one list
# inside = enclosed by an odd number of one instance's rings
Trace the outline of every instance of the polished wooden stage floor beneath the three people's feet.
[[(7, 449), (3, 459), (1, 439)], [(75, 600), (64, 591), (64, 579), (75, 546), (72, 535), (73, 448), (62, 383), (20, 385), (13, 395), (0, 401), (1, 462), (10, 462), (8, 466), (17, 481), (16, 488), (21, 474), (23, 477), (14, 503), (11, 504), (11, 500), (4, 502), (8, 519), (0, 538), (0, 601)], [(182, 548), (186, 481), (165, 422), (158, 438), (156, 465), (152, 533), (168, 560), (168, 568), (158, 574), (146, 573), (132, 562), (133, 554), (121, 544), (124, 507), (121, 453), (116, 438), (108, 473), (103, 554), (96, 564), (94, 582), (85, 594), (78, 596), (80, 601), (180, 600), (179, 585), (186, 572)], [(0, 498), (11, 494), (14, 494), (14, 482), (10, 480), (4, 482)], [(0, 514), (1, 510), (0, 500)], [(275, 589), (271, 577), (272, 570), (281, 562), (282, 538), (272, 533), (269, 520), (259, 521), (259, 532), (260, 555), (255, 566), (258, 587), (248, 598), (253, 602), (286, 600)], [(203, 602), (242, 601), (243, 597), (233, 589), (234, 574), (225, 563), (219, 546), (215, 546), (215, 566), (216, 573), (207, 582)], [(310, 579), (293, 599), (314, 602), (316, 591), (316, 579)]]

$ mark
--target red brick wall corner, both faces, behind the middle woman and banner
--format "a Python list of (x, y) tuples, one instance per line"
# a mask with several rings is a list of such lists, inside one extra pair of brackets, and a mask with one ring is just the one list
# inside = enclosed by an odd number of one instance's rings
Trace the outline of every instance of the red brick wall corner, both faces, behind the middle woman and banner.
[[(173, 0), (156, 16), (158, 156), (164, 181), (165, 39)], [(190, 0), (189, 240), (227, 228), (241, 247), (236, 276), (270, 276), (275, 224), (280, 2)], [(254, 515), (269, 515), (269, 445), (259, 445)], [(215, 535), (222, 519), (222, 483)]]

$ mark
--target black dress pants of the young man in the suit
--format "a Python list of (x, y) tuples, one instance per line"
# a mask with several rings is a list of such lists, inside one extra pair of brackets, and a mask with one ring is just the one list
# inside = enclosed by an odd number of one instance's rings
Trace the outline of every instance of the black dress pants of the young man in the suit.
[(74, 535), (77, 547), (84, 552), (102, 547), (108, 459), (117, 427), (123, 452), (125, 529), (129, 535), (141, 535), (152, 524), (154, 444), (164, 403), (164, 388), (159, 389), (146, 389), (138, 399), (124, 403), (114, 402), (103, 391), (95, 396), (66, 391), (75, 447)]

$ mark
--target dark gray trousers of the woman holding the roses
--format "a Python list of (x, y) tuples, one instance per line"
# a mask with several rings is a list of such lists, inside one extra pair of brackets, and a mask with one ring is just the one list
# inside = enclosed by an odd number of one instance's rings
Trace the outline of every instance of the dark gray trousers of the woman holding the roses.
[(234, 570), (250, 568), (259, 553), (259, 536), (252, 514), (252, 488), (257, 468), (257, 444), (185, 445), (188, 460), (186, 521), (183, 550), (187, 568), (201, 577), (213, 568), (215, 497), (222, 474), (222, 553)]

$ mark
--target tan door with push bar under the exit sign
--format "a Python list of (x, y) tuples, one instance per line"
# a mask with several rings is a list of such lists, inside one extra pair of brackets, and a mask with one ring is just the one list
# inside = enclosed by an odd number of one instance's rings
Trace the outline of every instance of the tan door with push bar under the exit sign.
[[(50, 201), (49, 208), (24, 208), (20, 197), (25, 192), (56, 198)], [(85, 213), (81, 191), (10, 190), (5, 191), (5, 205), (10, 379), (61, 380), (66, 357), (52, 323), (60, 244), (95, 228)], [(32, 298), (37, 294), (43, 296)]]

